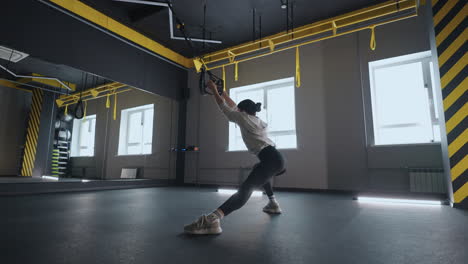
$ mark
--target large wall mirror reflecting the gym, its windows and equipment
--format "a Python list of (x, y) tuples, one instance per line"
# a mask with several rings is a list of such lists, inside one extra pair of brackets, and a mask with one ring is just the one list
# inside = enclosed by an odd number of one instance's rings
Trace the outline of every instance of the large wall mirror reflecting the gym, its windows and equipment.
[(175, 179), (177, 101), (33, 56), (0, 64), (0, 183)]

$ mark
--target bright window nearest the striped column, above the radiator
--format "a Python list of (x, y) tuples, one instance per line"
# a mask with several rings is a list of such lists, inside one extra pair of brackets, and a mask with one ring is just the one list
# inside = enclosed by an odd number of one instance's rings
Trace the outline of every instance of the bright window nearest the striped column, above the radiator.
[(369, 63), (375, 145), (440, 142), (430, 56)]

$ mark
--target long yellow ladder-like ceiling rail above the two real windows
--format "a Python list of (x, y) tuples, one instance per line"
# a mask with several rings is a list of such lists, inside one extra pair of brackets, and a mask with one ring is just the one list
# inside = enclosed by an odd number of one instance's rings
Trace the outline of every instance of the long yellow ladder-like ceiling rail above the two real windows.
[[(421, 1), (424, 3), (425, 1)], [(350, 12), (341, 16), (333, 17), (330, 19), (322, 20), (316, 23), (312, 23), (309, 25), (305, 25), (302, 27), (298, 27), (293, 29), (289, 32), (281, 32), (269, 37), (264, 37), (261, 40), (256, 40), (254, 42), (244, 43), (235, 47), (231, 47), (228, 49), (224, 49), (221, 51), (209, 53), (206, 55), (201, 56), (200, 58), (196, 58), (196, 60), (203, 61), (204, 65), (207, 66), (207, 69), (216, 69), (221, 68), (226, 65), (231, 65), (234, 63), (239, 63), (251, 59), (255, 59), (258, 57), (267, 56), (276, 52), (284, 51), (287, 49), (292, 49), (296, 47), (300, 47), (303, 45), (307, 45), (310, 43), (318, 42), (325, 39), (330, 39), (333, 37), (342, 36), (345, 34), (350, 34), (353, 32), (372, 29), (377, 26), (381, 26), (384, 24), (396, 22), (399, 20), (407, 19), (410, 17), (417, 16), (417, 13), (405, 15), (402, 17), (390, 19), (384, 22), (375, 23), (368, 26), (359, 26), (362, 23), (371, 23), (373, 19), (388, 17), (391, 15), (395, 15), (401, 11), (411, 10), (414, 9), (416, 11), (418, 7), (418, 0), (391, 0), (387, 1), (378, 5), (374, 5), (371, 7), (363, 8), (354, 12)], [(358, 26), (355, 29), (346, 29), (345, 27), (349, 26)], [(338, 32), (339, 29), (343, 29), (341, 32)], [(301, 40), (307, 37), (318, 36), (319, 34), (330, 32), (330, 36), (325, 36), (317, 39), (313, 39), (310, 41), (305, 41), (298, 44), (293, 44), (294, 41)], [(262, 44), (262, 45), (259, 45)], [(263, 45), (264, 44), (264, 45)], [(290, 44), (290, 45), (287, 45)], [(287, 45), (286, 47), (277, 49), (278, 45)], [(262, 53), (259, 55), (255, 55), (258, 51), (266, 51), (266, 53)], [(235, 54), (235, 58), (239, 58), (239, 56), (252, 54), (244, 59), (235, 60), (233, 58), (233, 54)], [(227, 62), (226, 62), (227, 61)], [(210, 64), (218, 62), (217, 65), (210, 67)]]

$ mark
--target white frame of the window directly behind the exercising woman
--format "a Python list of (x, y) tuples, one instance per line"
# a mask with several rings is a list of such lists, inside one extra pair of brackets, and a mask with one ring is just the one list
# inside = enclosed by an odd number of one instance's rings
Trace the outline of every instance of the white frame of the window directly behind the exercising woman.
[[(274, 81), (268, 81), (268, 82), (262, 82), (262, 83), (257, 83), (257, 84), (252, 84), (252, 85), (246, 85), (246, 86), (241, 86), (241, 87), (235, 87), (230, 89), (231, 95), (233, 92), (237, 95), (239, 93), (243, 92), (252, 92), (256, 90), (263, 90), (263, 105), (262, 105), (262, 111), (264, 111), (266, 114), (266, 119), (264, 120), (266, 123), (268, 123), (268, 92), (269, 90), (274, 90), (274, 89), (281, 89), (284, 88), (285, 86), (292, 86), (293, 87), (293, 92), (294, 92), (294, 118), (296, 115), (296, 96), (295, 96), (295, 89), (294, 89), (294, 84), (295, 84), (295, 79), (294, 77), (289, 77), (289, 78), (284, 78), (284, 79), (279, 79), (279, 80), (274, 80)], [(236, 92), (236, 89), (242, 89), (239, 92)], [(234, 101), (236, 101), (237, 98), (232, 98)], [(239, 103), (239, 102), (237, 102)], [(234, 127), (234, 129), (233, 129)], [(242, 141), (242, 135), (240, 131), (237, 129), (237, 124), (230, 122), (229, 123), (229, 133), (234, 130), (234, 138), (236, 141)], [(278, 147), (278, 149), (297, 149), (297, 130), (296, 130), (296, 122), (294, 122), (294, 129), (291, 130), (281, 130), (281, 131), (270, 131), (268, 130), (268, 137), (274, 137), (274, 136), (284, 136), (284, 135), (293, 135), (296, 137), (296, 147), (286, 147), (283, 148), (281, 146)], [(231, 135), (229, 135), (229, 141), (231, 140)], [(231, 144), (228, 142), (228, 147), (227, 147), (227, 152), (242, 152), (242, 151), (248, 151), (246, 148), (245, 149), (231, 149)]]

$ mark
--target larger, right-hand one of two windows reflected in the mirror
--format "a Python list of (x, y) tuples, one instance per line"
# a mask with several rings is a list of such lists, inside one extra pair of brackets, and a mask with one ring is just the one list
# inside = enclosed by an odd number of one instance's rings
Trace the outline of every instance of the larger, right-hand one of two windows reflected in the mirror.
[(153, 104), (122, 110), (119, 155), (151, 154), (153, 117)]

